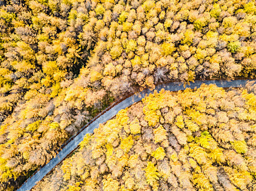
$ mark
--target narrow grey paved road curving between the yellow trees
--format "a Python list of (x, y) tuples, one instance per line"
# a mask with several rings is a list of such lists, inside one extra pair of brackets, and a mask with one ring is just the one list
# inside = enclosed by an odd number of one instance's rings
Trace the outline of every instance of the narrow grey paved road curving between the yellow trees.
[[(178, 91), (178, 90), (184, 90), (185, 88), (195, 88), (200, 87), (202, 83), (210, 84), (213, 83), (217, 85), (218, 87), (244, 87), (246, 85), (247, 81), (252, 80), (234, 80), (234, 81), (226, 81), (226, 80), (206, 80), (206, 81), (195, 81), (191, 82), (190, 85), (186, 85), (186, 87), (183, 86), (183, 83), (181, 82), (169, 82), (166, 84), (161, 84), (156, 86), (156, 90), (159, 92), (162, 88), (169, 90), (169, 91)], [(133, 94), (133, 96), (128, 97), (127, 99), (124, 99), (121, 103), (113, 106), (109, 111), (106, 111), (103, 115), (96, 118), (95, 121), (90, 123), (87, 128), (82, 130), (78, 135), (74, 136), (74, 138), (64, 147), (62, 150), (57, 154), (55, 158), (50, 160), (50, 162), (46, 165), (44, 165), (41, 169), (39, 169), (36, 174), (32, 175), (26, 182), (22, 184), (22, 186), (18, 189), (18, 191), (25, 191), (30, 190), (35, 184), (42, 180), (42, 178), (48, 174), (58, 163), (60, 163), (66, 156), (68, 156), (77, 146), (78, 144), (83, 140), (84, 135), (87, 133), (93, 133), (93, 130), (95, 128), (99, 127), (100, 123), (105, 123), (107, 120), (110, 120), (112, 117), (114, 117), (118, 111), (121, 109), (126, 109), (128, 106), (139, 102), (141, 99), (145, 97), (146, 94), (153, 93), (153, 91), (150, 91), (149, 89), (145, 89), (142, 92), (139, 92), (137, 94)]]

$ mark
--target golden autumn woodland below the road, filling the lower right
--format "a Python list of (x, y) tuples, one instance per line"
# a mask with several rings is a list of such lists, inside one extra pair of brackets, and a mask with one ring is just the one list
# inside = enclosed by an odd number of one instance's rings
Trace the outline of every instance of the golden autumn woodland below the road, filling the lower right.
[(85, 136), (32, 191), (253, 191), (255, 93), (202, 85), (150, 94)]

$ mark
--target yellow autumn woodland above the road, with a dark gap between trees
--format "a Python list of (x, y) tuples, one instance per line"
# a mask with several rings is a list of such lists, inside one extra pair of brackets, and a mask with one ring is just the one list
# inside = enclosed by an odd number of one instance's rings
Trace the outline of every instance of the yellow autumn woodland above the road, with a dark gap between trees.
[(247, 0), (0, 0), (0, 190), (127, 93), (255, 78), (255, 23)]

